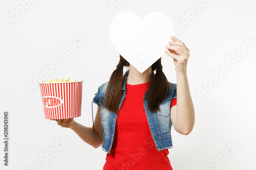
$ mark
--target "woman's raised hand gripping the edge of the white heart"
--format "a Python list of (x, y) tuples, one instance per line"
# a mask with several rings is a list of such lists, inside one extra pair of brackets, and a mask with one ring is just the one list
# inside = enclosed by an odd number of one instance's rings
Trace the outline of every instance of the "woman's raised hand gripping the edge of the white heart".
[(165, 54), (174, 59), (176, 74), (186, 74), (187, 61), (190, 55), (189, 50), (184, 42), (180, 41), (178, 38), (174, 36), (170, 36), (170, 38), (172, 38), (174, 41), (169, 41), (168, 43), (170, 45), (165, 45), (165, 47), (168, 49), (168, 51), (165, 51)]

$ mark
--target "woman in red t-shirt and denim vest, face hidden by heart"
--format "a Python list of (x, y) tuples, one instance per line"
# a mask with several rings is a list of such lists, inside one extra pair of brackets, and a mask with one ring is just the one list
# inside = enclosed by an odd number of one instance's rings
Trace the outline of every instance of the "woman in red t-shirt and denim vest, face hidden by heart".
[[(177, 84), (166, 79), (161, 58), (140, 73), (120, 55), (110, 81), (98, 88), (93, 99), (98, 105), (93, 127), (84, 127), (73, 118), (56, 120), (108, 153), (103, 169), (173, 169), (167, 157), (173, 148), (170, 128), (173, 125), (177, 132), (189, 134), (195, 111), (186, 76), (189, 50), (171, 38), (174, 41), (165, 46), (165, 53), (174, 60)], [(130, 67), (124, 75), (123, 66)]]

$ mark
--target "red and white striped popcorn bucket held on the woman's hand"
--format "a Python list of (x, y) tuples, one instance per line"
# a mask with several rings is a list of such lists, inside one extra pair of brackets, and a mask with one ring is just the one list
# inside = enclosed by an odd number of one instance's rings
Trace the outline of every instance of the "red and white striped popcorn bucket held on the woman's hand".
[(45, 118), (81, 116), (82, 82), (39, 83)]

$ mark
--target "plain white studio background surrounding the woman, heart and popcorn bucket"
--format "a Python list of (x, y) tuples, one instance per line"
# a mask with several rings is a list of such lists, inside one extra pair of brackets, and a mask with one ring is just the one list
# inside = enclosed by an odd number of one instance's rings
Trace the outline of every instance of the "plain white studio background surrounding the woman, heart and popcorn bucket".
[[(187, 77), (196, 113), (195, 127), (189, 135), (172, 128), (174, 148), (169, 149), (168, 157), (173, 169), (255, 169), (256, 3), (205, 0), (195, 13), (190, 6), (200, 1), (113, 2), (118, 5), (113, 7), (110, 1), (37, 0), (9, 26), (6, 17), (11, 18), (13, 10), (22, 4), (0, 2), (1, 141), (4, 111), (10, 114), (9, 166), (3, 165), (1, 142), (0, 168), (31, 170), (38, 164), (38, 169), (102, 169), (106, 153), (101, 147), (94, 149), (73, 130), (45, 119), (39, 87), (30, 91), (27, 85), (44, 72), (42, 67), (56, 60), (58, 66), (47, 74), (46, 80), (65, 76), (84, 80), (82, 113), (75, 120), (92, 127), (92, 99), (98, 87), (109, 81), (119, 61), (109, 39), (111, 19), (122, 11), (132, 11), (140, 17), (161, 11), (176, 25), (183, 25), (175, 31), (190, 50)], [(190, 19), (185, 23), (187, 15)], [(61, 60), (57, 54), (73, 42), (75, 35), (86, 39)], [(247, 40), (254, 44), (249, 46)], [(238, 60), (229, 58), (235, 53), (240, 53)], [(176, 83), (173, 59), (164, 55), (162, 65), (168, 81)], [(228, 71), (218, 79), (213, 72), (221, 71), (223, 66)], [(206, 82), (211, 82), (211, 88), (204, 88)], [(205, 89), (201, 95), (199, 88)], [(94, 117), (95, 114), (94, 104)], [(46, 161), (46, 152), (54, 150), (58, 138), (68, 142)], [(236, 147), (232, 150), (229, 143)]]

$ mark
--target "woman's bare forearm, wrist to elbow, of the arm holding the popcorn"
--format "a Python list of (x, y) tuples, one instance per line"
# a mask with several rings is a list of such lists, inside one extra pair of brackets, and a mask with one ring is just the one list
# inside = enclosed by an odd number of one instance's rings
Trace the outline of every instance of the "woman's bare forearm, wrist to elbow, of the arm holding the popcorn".
[(74, 121), (70, 129), (72, 129), (84, 142), (87, 142), (94, 148), (98, 148), (100, 145), (102, 145), (98, 133), (95, 131), (94, 134), (93, 128), (82, 126), (81, 124)]

